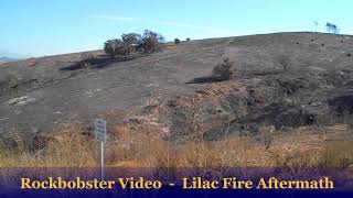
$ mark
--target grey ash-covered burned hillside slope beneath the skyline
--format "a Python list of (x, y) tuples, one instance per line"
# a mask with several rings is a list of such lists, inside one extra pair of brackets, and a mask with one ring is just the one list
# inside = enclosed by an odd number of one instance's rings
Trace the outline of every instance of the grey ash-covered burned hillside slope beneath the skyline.
[[(291, 107), (299, 90), (306, 98), (301, 105), (315, 106), (309, 109), (310, 113), (324, 112), (328, 106), (332, 106), (333, 111), (343, 108), (352, 113), (352, 47), (353, 38), (346, 35), (277, 33), (185, 42), (151, 56), (115, 63), (97, 51), (90, 67), (85, 69), (77, 64), (79, 54), (39, 58), (35, 66), (24, 62), (2, 64), (0, 133), (19, 131), (31, 136), (68, 119), (92, 118), (107, 110), (140, 106), (154, 94), (174, 100), (175, 96), (223, 85), (231, 92), (234, 90), (232, 95), (243, 90), (232, 86), (242, 85), (245, 95), (234, 101), (231, 97), (213, 102), (211, 109), (205, 110), (205, 120), (218, 123), (210, 128), (210, 133), (220, 131), (226, 123), (235, 123), (237, 129), (244, 122), (266, 120), (260, 116), (272, 118), (267, 119), (266, 124), (291, 125), (286, 114), (293, 110), (284, 109), (287, 105), (281, 102), (287, 101)], [(237, 67), (232, 80), (200, 80), (207, 78), (224, 57), (229, 57)], [(229, 97), (225, 95), (224, 98)], [(246, 118), (239, 117), (236, 101), (247, 103)], [(266, 108), (271, 110), (265, 111)], [(175, 108), (169, 110), (176, 112)], [(220, 112), (212, 114), (213, 110)], [(258, 112), (282, 113), (284, 117), (255, 117)], [(188, 118), (188, 113), (181, 117)], [(182, 121), (180, 118), (171, 119), (172, 131), (179, 130), (175, 123)]]

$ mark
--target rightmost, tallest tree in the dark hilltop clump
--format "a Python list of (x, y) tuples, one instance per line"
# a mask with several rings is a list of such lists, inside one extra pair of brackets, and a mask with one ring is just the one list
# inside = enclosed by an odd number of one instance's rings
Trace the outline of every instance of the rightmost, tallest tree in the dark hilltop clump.
[(146, 30), (138, 41), (137, 50), (143, 54), (151, 54), (162, 50), (164, 37), (161, 34)]

